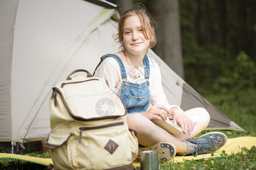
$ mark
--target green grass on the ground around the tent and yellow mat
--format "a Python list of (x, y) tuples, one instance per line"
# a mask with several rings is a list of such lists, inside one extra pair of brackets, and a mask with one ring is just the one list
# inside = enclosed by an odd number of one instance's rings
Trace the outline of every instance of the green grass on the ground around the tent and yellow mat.
[[(250, 88), (246, 91), (239, 92), (219, 92), (210, 93), (201, 91), (200, 94), (212, 103), (222, 113), (236, 122), (237, 125), (249, 131), (246, 134), (242, 131), (226, 131), (228, 138), (241, 136), (255, 137), (255, 99), (256, 89)], [(203, 131), (199, 135), (207, 133)], [(256, 169), (255, 146), (251, 148), (241, 148), (237, 154), (227, 155), (222, 152), (220, 158), (210, 158), (201, 160), (183, 160), (181, 163), (168, 163), (161, 166), (161, 169)], [(32, 152), (26, 154), (40, 158), (51, 158), (49, 152)], [(0, 160), (0, 169), (46, 169), (47, 167), (39, 164), (24, 162), (22, 160), (2, 159)], [(139, 169), (139, 167), (136, 167)]]

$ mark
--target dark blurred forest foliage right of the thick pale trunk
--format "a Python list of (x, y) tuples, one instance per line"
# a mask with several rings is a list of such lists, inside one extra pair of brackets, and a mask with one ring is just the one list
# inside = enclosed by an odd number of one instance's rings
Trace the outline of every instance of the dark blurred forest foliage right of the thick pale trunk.
[(232, 90), (239, 97), (255, 87), (255, 40), (247, 36), (253, 33), (250, 4), (254, 2), (180, 1), (185, 81), (200, 93)]

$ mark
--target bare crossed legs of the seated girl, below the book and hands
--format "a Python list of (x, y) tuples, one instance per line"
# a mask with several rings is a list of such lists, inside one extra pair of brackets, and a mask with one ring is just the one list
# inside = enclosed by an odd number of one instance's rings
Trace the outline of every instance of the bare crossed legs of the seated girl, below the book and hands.
[[(208, 112), (203, 108), (190, 109), (185, 113), (188, 114), (188, 116), (200, 115), (200, 122), (201, 117), (205, 117), (204, 119), (206, 120), (208, 114)], [(204, 114), (206, 114), (206, 116)], [(155, 125), (152, 121), (148, 120), (148, 118), (139, 113), (127, 114), (127, 124), (130, 129), (137, 131), (139, 134), (137, 138), (141, 145), (150, 146), (158, 142), (170, 142), (176, 146), (177, 152), (184, 152), (187, 149), (187, 145), (181, 140), (189, 139), (190, 137), (200, 133), (200, 131), (203, 130), (209, 123), (208, 121), (204, 122), (204, 125), (201, 125), (200, 122), (196, 123), (191, 135), (180, 135), (179, 137), (174, 137), (166, 130), (160, 128), (158, 125)], [(205, 124), (207, 125), (205, 126)]]

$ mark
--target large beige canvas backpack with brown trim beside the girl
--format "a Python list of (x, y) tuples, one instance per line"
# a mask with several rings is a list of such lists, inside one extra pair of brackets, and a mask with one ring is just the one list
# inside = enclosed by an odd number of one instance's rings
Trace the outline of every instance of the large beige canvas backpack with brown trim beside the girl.
[[(84, 76), (70, 76), (85, 71)], [(52, 88), (47, 145), (55, 169), (134, 169), (138, 140), (105, 79), (75, 70)]]

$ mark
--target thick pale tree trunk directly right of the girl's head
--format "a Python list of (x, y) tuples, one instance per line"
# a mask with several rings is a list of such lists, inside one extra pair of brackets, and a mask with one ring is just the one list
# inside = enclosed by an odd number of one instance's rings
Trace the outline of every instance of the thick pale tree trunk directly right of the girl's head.
[(146, 6), (158, 23), (158, 42), (154, 52), (167, 63), (181, 78), (184, 78), (181, 50), (179, 0), (146, 1)]

